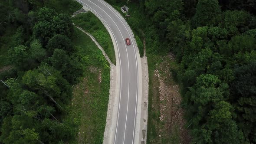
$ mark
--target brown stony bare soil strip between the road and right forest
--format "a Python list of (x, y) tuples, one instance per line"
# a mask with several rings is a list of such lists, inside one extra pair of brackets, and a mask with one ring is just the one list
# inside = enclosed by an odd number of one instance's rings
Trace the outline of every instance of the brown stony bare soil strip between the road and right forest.
[[(189, 144), (190, 136), (184, 126), (186, 124), (184, 110), (180, 107), (182, 97), (179, 85), (174, 82), (170, 72), (171, 62), (174, 62), (174, 55), (170, 53), (163, 58), (163, 61), (154, 70), (154, 77), (159, 82), (159, 107), (157, 107), (159, 108), (160, 124), (158, 127), (158, 143)], [(152, 105), (152, 107), (155, 107), (155, 105)]]

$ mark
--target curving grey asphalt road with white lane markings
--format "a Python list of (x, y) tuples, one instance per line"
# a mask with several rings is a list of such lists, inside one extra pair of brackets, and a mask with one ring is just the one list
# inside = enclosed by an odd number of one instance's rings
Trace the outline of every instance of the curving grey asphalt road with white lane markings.
[[(138, 61), (136, 56), (138, 53), (136, 53), (135, 43), (131, 39), (133, 35), (128, 30), (128, 25), (101, 0), (80, 1), (105, 20), (115, 37), (120, 60), (121, 80), (117, 127), (113, 141), (114, 144), (133, 144), (138, 99)], [(130, 46), (126, 45), (125, 38), (130, 39)]]

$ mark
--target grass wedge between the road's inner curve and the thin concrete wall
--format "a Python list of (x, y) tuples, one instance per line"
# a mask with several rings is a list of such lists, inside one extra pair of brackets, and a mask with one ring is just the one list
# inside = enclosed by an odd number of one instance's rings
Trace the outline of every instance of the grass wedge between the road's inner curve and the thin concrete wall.
[(72, 18), (73, 22), (82, 27), (85, 31), (92, 34), (102, 46), (112, 63), (115, 62), (115, 49), (112, 39), (102, 22), (91, 12), (80, 13)]

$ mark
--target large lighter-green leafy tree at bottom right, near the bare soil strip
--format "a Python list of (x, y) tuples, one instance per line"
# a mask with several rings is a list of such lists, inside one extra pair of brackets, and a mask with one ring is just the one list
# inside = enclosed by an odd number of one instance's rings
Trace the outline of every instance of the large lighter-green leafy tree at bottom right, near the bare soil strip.
[(188, 103), (188, 115), (194, 142), (244, 143), (243, 133), (232, 120), (232, 107), (225, 101), (229, 95), (228, 88), (227, 84), (210, 74), (197, 77), (196, 84), (190, 88), (187, 96), (191, 96), (192, 103)]

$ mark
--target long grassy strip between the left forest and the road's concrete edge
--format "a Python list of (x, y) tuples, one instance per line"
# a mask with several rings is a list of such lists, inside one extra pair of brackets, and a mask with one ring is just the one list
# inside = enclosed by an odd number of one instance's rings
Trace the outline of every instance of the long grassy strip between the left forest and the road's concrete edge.
[(73, 87), (72, 103), (65, 121), (78, 127), (71, 144), (101, 144), (108, 110), (110, 68), (89, 36), (75, 28), (73, 40), (85, 62), (85, 76)]

